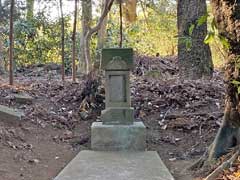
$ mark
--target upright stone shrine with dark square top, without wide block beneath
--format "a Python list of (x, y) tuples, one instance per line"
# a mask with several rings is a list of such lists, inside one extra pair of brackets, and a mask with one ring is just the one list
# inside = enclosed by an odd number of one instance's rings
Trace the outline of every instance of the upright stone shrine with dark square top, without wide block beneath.
[(132, 49), (103, 49), (101, 68), (105, 70), (106, 109), (101, 120), (108, 125), (133, 124), (130, 100), (130, 70)]

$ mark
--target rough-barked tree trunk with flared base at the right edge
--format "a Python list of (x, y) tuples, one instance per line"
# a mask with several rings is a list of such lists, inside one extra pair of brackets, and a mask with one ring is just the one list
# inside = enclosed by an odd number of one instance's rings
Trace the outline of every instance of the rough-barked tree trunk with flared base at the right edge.
[(212, 0), (211, 3), (219, 33), (228, 40), (230, 49), (225, 66), (225, 114), (208, 160), (220, 157), (240, 142), (239, 85), (233, 83), (240, 82), (240, 1)]

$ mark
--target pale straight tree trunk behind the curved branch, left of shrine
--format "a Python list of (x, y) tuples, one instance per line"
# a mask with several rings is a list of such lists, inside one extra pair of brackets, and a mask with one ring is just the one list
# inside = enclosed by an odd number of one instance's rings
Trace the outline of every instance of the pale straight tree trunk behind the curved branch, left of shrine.
[[(86, 72), (90, 70), (91, 62), (86, 59), (86, 51), (90, 51), (89, 44), (84, 42), (92, 22), (92, 1), (82, 0), (82, 37), (81, 37), (81, 62), (85, 62)], [(80, 68), (79, 68), (80, 69)]]

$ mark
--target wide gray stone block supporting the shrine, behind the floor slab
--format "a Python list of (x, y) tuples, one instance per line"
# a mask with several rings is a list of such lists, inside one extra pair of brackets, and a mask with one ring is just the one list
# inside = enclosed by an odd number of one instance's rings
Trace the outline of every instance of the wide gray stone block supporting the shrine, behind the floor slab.
[(91, 127), (91, 147), (99, 151), (145, 150), (146, 127), (142, 122), (134, 122), (132, 125), (94, 122)]

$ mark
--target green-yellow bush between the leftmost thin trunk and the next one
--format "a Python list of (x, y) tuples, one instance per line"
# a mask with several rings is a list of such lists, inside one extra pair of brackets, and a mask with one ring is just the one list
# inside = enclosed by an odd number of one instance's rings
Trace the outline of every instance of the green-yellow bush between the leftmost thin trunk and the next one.
[(34, 18), (15, 23), (15, 59), (17, 65), (59, 61), (60, 23)]

